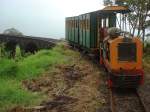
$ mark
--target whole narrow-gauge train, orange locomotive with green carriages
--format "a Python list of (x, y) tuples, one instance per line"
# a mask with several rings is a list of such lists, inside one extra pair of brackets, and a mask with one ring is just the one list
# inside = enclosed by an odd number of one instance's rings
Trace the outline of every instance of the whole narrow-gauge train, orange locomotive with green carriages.
[(110, 88), (137, 88), (144, 83), (143, 44), (128, 31), (130, 12), (124, 6), (106, 6), (65, 20), (65, 39), (98, 56)]

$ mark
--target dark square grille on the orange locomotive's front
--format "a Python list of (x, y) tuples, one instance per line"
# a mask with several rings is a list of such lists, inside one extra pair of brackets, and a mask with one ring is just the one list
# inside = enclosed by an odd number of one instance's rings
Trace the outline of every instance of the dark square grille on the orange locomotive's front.
[(118, 60), (136, 61), (136, 43), (119, 43)]

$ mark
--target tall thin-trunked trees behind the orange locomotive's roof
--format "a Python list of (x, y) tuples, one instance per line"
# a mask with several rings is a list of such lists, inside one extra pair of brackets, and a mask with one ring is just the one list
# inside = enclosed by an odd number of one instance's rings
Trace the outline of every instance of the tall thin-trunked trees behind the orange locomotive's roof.
[(118, 5), (126, 5), (132, 11), (127, 15), (132, 34), (145, 40), (145, 30), (150, 28), (150, 0), (115, 0)]

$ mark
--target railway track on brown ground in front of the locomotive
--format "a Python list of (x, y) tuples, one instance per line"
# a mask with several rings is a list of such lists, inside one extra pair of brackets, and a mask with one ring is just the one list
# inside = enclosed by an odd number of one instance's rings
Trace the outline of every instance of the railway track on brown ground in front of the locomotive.
[(110, 89), (111, 112), (149, 112), (138, 90)]

